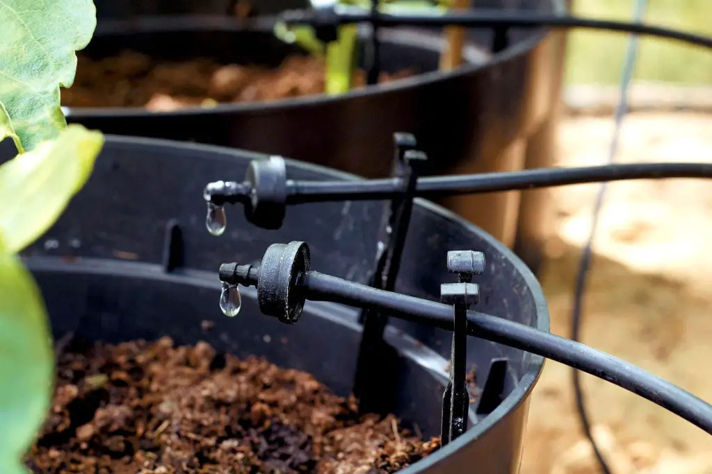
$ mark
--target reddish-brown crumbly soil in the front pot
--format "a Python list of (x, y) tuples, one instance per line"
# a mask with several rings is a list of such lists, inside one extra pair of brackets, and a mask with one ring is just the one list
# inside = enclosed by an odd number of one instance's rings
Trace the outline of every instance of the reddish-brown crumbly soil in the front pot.
[(427, 456), (312, 375), (207, 343), (70, 343), (28, 464), (38, 473), (392, 473)]

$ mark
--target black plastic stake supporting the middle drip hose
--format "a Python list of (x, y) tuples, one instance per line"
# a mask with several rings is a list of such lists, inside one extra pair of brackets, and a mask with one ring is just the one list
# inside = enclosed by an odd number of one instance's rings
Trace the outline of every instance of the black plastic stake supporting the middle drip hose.
[[(414, 150), (416, 141), (411, 134), (397, 133), (393, 139), (396, 152), (392, 174), (402, 179), (402, 193), (384, 208), (375, 270), (370, 282), (372, 287), (386, 291), (393, 291), (395, 286), (413, 210), (418, 168), (419, 164), (426, 160), (424, 153)], [(377, 311), (366, 310), (362, 311), (360, 321), (363, 333), (356, 365), (354, 394), (360, 399), (362, 412), (379, 413), (387, 410), (384, 406), (387, 402), (379, 392), (382, 391), (384, 380), (392, 379), (387, 373), (387, 365), (383, 363), (387, 350), (383, 333), (388, 317)]]

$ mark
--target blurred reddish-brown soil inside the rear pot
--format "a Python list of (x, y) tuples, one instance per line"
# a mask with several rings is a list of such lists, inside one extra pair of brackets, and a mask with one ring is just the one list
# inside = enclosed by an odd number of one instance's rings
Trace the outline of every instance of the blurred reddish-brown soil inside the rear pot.
[[(383, 73), (380, 82), (414, 75), (404, 70)], [(259, 102), (317, 95), (324, 90), (323, 60), (293, 56), (276, 69), (221, 65), (196, 59), (165, 63), (133, 51), (101, 60), (78, 55), (75, 81), (62, 90), (67, 107), (146, 107), (170, 111), (212, 107), (223, 102)], [(355, 87), (365, 85), (365, 72), (355, 72)]]

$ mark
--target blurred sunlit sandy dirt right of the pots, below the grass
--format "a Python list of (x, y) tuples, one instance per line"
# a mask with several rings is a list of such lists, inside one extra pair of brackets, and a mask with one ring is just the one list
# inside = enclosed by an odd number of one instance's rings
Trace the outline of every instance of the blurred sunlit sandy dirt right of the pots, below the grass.
[[(561, 166), (607, 158), (611, 117), (565, 117)], [(617, 161), (712, 161), (712, 114), (634, 113)], [(541, 277), (552, 330), (568, 335), (580, 247), (597, 185), (547, 191), (553, 235)], [(614, 183), (595, 240), (583, 340), (712, 401), (712, 181)], [(521, 473), (597, 474), (575, 414), (570, 369), (547, 362), (530, 405)], [(712, 473), (712, 438), (664, 409), (584, 376), (614, 474)]]

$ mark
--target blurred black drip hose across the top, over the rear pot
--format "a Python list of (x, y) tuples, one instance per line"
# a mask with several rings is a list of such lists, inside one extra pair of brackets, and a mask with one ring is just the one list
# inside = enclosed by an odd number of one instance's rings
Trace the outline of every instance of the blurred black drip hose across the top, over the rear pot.
[[(318, 16), (314, 11), (288, 11), (281, 17), (282, 21), (291, 24), (310, 24), (313, 26), (329, 26), (334, 23), (368, 23), (372, 16), (370, 11), (357, 6), (340, 5), (337, 14)], [(635, 33), (646, 36), (657, 36), (692, 45), (712, 48), (712, 38), (708, 36), (686, 33), (661, 26), (629, 23), (625, 21), (595, 20), (570, 15), (542, 15), (523, 11), (500, 11), (492, 9), (475, 9), (447, 11), (441, 14), (378, 14), (379, 26), (468, 26), (468, 27), (550, 27), (550, 28), (587, 28), (595, 30), (617, 31), (619, 33)]]

